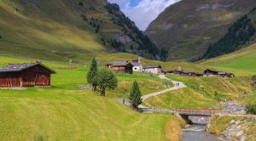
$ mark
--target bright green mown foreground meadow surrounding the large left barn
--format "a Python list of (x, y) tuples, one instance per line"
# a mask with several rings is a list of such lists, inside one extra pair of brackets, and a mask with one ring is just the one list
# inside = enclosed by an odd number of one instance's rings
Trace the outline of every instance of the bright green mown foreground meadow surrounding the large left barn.
[[(1, 57), (0, 65), (27, 61), (30, 60)], [(52, 78), (53, 87), (0, 90), (2, 140), (33, 140), (35, 137), (49, 140), (177, 138), (181, 127), (176, 117), (139, 114), (115, 99), (102, 98), (89, 90), (77, 90), (79, 83), (85, 83), (81, 76), (85, 75), (86, 68), (50, 62), (46, 65), (57, 71)], [(130, 76), (118, 76), (123, 81), (125, 77)], [(135, 79), (140, 78), (143, 76)]]

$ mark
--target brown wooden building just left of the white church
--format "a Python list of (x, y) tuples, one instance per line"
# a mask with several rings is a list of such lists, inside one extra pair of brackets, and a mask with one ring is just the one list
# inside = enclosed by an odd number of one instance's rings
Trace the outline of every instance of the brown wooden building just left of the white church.
[(133, 65), (128, 61), (111, 61), (105, 65), (105, 67), (113, 70), (114, 72), (132, 74)]

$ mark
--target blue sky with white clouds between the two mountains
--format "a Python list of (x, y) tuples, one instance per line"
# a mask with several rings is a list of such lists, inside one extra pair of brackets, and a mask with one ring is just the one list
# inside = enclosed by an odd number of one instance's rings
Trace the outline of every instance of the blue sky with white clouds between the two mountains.
[(180, 0), (108, 0), (118, 3), (121, 10), (144, 31), (165, 8)]

